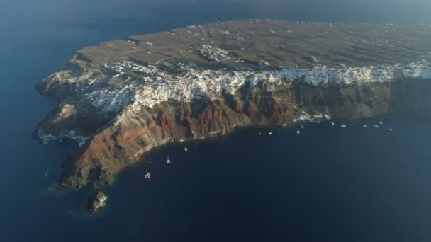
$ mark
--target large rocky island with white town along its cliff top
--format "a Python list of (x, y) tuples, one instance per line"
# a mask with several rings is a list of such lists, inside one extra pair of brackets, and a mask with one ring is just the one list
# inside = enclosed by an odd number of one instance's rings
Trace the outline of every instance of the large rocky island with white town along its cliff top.
[(101, 188), (169, 142), (247, 126), (431, 115), (430, 40), (431, 25), (250, 20), (102, 42), (38, 84), (59, 105), (35, 135), (76, 141), (62, 188)]

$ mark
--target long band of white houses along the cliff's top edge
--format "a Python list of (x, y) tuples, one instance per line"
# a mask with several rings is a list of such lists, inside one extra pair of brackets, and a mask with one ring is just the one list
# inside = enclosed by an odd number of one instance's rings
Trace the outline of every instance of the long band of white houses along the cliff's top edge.
[(394, 79), (431, 79), (431, 64), (427, 61), (379, 67), (342, 67), (335, 69), (316, 65), (313, 68), (285, 67), (276, 70), (208, 70), (193, 69), (181, 74), (166, 74), (155, 67), (144, 67), (133, 62), (107, 64), (117, 75), (142, 73), (142, 80), (118, 85), (87, 95), (92, 105), (103, 112), (118, 111), (128, 105), (154, 107), (167, 100), (190, 102), (196, 98), (217, 98), (222, 92), (234, 94), (245, 83), (255, 85), (267, 81), (269, 86), (303, 79), (313, 85), (328, 83), (384, 82)]

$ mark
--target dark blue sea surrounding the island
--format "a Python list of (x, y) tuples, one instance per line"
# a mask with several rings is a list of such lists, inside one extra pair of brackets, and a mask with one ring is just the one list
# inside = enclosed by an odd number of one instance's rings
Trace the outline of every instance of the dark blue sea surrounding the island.
[(431, 23), (430, 9), (421, 0), (1, 1), (0, 241), (431, 241), (428, 117), (306, 124), (300, 135), (247, 128), (188, 152), (164, 146), (103, 189), (107, 207), (95, 217), (84, 210), (91, 188), (52, 189), (76, 144), (31, 137), (56, 106), (35, 84), (87, 45), (245, 18)]

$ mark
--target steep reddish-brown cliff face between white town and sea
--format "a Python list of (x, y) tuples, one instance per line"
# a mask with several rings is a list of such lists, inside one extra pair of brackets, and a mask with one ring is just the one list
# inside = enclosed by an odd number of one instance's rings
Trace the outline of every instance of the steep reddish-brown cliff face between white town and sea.
[[(253, 98), (237, 96), (235, 101), (200, 100), (191, 108), (172, 103), (168, 108), (147, 110), (151, 115), (123, 112), (65, 161), (61, 183), (66, 188), (108, 185), (118, 171), (140, 161), (153, 147), (172, 140), (218, 137), (247, 125), (289, 125), (302, 110), (330, 113), (335, 119), (410, 111), (431, 115), (431, 108), (412, 110), (415, 105), (431, 107), (430, 81), (331, 87), (297, 84), (279, 90), (277, 98), (262, 98), (257, 94), (260, 90), (252, 93)], [(55, 123), (62, 123), (61, 118)]]

